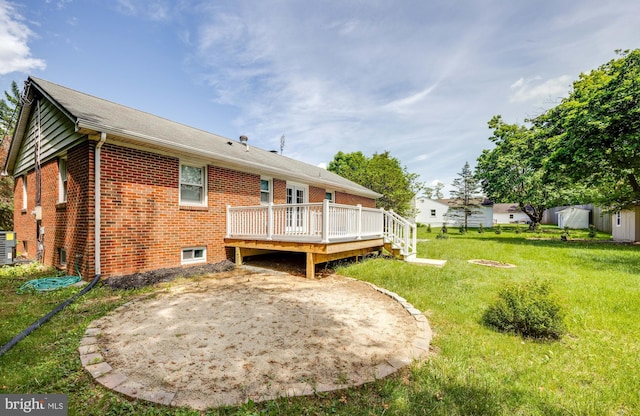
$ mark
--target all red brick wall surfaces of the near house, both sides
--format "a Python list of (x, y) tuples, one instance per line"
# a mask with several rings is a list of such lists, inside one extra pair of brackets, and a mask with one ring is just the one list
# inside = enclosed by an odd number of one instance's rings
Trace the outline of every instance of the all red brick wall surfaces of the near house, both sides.
[[(43, 261), (59, 265), (58, 249), (67, 251), (67, 272), (73, 274), (76, 254), (87, 279), (95, 273), (94, 242), (95, 143), (85, 142), (67, 153), (67, 202), (58, 203), (58, 162), (42, 167), (45, 228)], [(227, 205), (260, 204), (260, 176), (217, 166), (207, 169), (207, 206), (179, 205), (180, 160), (173, 156), (106, 143), (101, 152), (101, 273), (131, 274), (181, 263), (187, 247), (206, 247), (207, 261), (232, 258), (224, 246)], [(35, 175), (28, 177), (29, 206), (22, 211), (22, 178), (15, 181), (14, 218), (18, 239), (36, 256)], [(309, 187), (309, 201), (321, 202), (325, 190)], [(273, 180), (274, 203), (286, 202), (286, 181)], [(336, 193), (336, 202), (375, 206), (369, 198)], [(18, 251), (23, 251), (18, 247)]]

